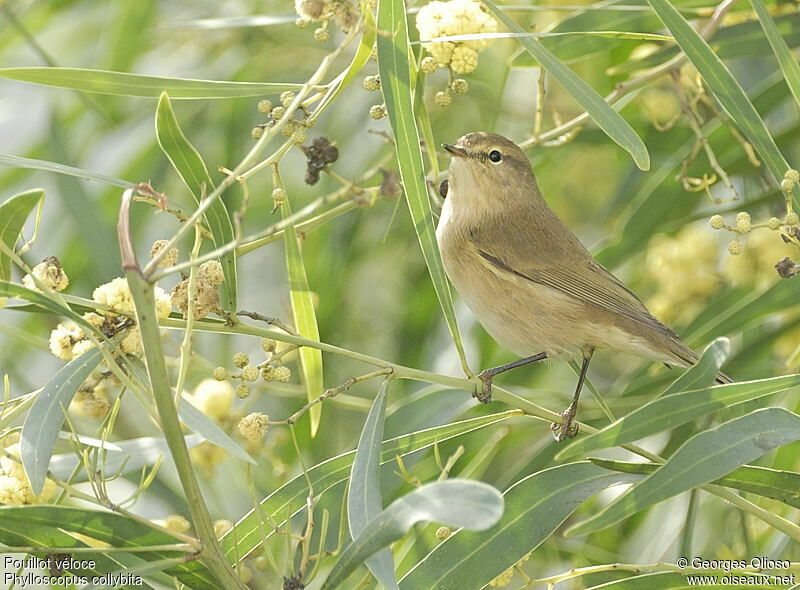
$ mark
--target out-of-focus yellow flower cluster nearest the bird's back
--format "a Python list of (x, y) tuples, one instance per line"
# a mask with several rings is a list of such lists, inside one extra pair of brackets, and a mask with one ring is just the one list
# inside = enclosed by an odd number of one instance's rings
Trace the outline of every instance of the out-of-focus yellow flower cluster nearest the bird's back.
[(657, 235), (647, 247), (647, 272), (658, 285), (648, 301), (658, 319), (671, 322), (692, 317), (703, 300), (719, 289), (717, 243), (700, 225), (683, 228), (675, 237)]

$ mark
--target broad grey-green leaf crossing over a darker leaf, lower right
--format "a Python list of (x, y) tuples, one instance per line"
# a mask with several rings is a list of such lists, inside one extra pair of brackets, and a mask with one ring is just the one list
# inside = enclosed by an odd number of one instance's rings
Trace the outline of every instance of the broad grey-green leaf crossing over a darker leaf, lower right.
[(767, 451), (800, 439), (800, 416), (765, 408), (690, 438), (653, 475), (598, 514), (571, 527), (569, 536), (602, 530), (633, 514), (727, 475)]

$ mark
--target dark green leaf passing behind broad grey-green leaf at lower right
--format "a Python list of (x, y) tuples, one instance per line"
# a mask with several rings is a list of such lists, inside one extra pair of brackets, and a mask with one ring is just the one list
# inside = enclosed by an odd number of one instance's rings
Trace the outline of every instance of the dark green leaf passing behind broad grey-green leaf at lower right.
[[(589, 457), (589, 461), (600, 467), (624, 473), (649, 475), (661, 467), (658, 463), (630, 463), (627, 461), (598, 459), (596, 457)], [(712, 483), (743, 492), (751, 492), (800, 508), (800, 473), (795, 473), (794, 471), (782, 471), (758, 465), (743, 465), (731, 471), (725, 477), (715, 479)]]

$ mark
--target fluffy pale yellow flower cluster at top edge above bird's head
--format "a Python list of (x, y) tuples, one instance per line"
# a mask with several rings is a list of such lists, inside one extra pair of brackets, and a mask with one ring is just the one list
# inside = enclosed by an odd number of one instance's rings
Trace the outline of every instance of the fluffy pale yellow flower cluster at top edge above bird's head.
[[(451, 35), (496, 33), (497, 21), (484, 12), (475, 0), (429, 2), (417, 13), (420, 39), (435, 39)], [(441, 68), (449, 67), (457, 74), (468, 74), (478, 67), (478, 52), (491, 40), (436, 41), (423, 43)]]

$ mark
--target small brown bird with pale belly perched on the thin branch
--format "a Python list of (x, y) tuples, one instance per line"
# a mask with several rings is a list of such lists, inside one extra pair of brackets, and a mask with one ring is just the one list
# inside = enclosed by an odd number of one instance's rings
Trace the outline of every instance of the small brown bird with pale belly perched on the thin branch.
[[(573, 419), (592, 354), (609, 348), (688, 367), (697, 354), (614, 275), (598, 264), (547, 206), (531, 165), (514, 142), (469, 133), (455, 145), (436, 228), (447, 276), (487, 332), (520, 360), (483, 371), (492, 379), (545, 358), (581, 356), (578, 386), (556, 440), (577, 434)], [(721, 383), (730, 379), (723, 374)]]

